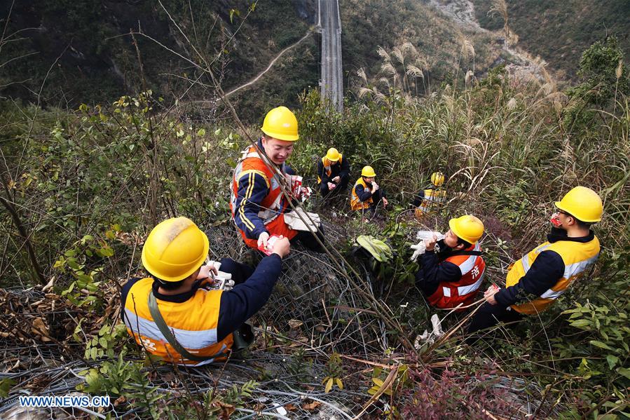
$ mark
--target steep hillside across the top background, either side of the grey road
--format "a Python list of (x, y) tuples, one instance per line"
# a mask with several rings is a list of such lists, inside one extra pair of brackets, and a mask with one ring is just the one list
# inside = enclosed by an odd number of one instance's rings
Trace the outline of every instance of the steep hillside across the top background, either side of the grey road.
[[(488, 69), (514, 61), (514, 54), (503, 48), (502, 33), (495, 30), (502, 27), (502, 17), (488, 15), (492, 4), (341, 2), (345, 86), (361, 88), (383, 76), (392, 80), (392, 69), (381, 68), (378, 47), (383, 47), (381, 54), (392, 55), (402, 79), (413, 73), (402, 84), (420, 95), (443, 82), (462, 85), (469, 71), (479, 79)], [(507, 11), (508, 25), (520, 39), (516, 46), (542, 56), (561, 75), (575, 76), (580, 52), (607, 33), (619, 34), (622, 49), (630, 52), (628, 1), (509, 1)], [(111, 102), (146, 86), (172, 103), (176, 98), (214, 100), (209, 78), (195, 66), (202, 57), (213, 63), (226, 91), (252, 79), (308, 32), (317, 20), (317, 1), (107, 0), (94, 5), (26, 0), (4, 2), (0, 16), (6, 24), (0, 41), (2, 97), (76, 107)], [(135, 41), (130, 32), (137, 32)], [(413, 50), (407, 48), (399, 62), (395, 48), (406, 42)], [(242, 117), (254, 121), (279, 102), (298, 106), (297, 95), (320, 79), (319, 43), (313, 32), (254, 86), (233, 95)], [(357, 76), (361, 68), (366, 81)]]

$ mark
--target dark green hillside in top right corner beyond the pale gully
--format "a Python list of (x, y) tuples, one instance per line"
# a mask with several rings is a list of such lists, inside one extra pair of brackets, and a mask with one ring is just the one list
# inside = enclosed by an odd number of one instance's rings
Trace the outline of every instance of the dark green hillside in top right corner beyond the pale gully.
[[(474, 11), (486, 29), (500, 29), (498, 14), (488, 15), (492, 2), (473, 0)], [(630, 55), (630, 1), (627, 0), (511, 0), (508, 25), (519, 36), (518, 45), (540, 55), (552, 69), (575, 78), (575, 63), (591, 43), (616, 35), (626, 57)]]

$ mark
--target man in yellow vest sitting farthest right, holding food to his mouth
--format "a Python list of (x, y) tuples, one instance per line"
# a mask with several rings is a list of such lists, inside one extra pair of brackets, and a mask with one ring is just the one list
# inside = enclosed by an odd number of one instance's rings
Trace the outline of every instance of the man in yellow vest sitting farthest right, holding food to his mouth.
[(601, 220), (601, 198), (592, 189), (575, 187), (556, 201), (556, 208), (547, 242), (512, 264), (504, 288), (486, 290), (486, 304), (472, 318), (469, 332), (545, 311), (596, 262), (599, 240), (591, 224)]

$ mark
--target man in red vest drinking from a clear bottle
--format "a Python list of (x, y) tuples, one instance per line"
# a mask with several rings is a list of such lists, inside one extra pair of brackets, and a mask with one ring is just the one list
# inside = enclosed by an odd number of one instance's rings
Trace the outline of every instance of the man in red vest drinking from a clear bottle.
[[(484, 280), (486, 262), (478, 243), (484, 234), (484, 224), (477, 217), (465, 215), (449, 220), (448, 226), (451, 229), (444, 239), (437, 241), (433, 236), (425, 241), (416, 287), (432, 306), (464, 309), (474, 302)], [(435, 252), (435, 245), (439, 245), (439, 252)]]

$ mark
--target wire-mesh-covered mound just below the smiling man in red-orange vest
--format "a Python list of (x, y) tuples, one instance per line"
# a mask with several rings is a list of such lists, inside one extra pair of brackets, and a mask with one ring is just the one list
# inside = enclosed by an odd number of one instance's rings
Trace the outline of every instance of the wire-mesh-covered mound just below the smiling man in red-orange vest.
[[(338, 226), (331, 224), (326, 224), (324, 231), (330, 243), (339, 243), (344, 236)], [(228, 255), (233, 259), (242, 259), (249, 250), (237, 235), (231, 226), (209, 231), (214, 257)], [(343, 259), (338, 263), (341, 269), (346, 264)], [(320, 348), (322, 353), (330, 353), (332, 346), (335, 351), (356, 351), (360, 348), (362, 353), (381, 353), (387, 348), (381, 340), (383, 325), (374, 316), (366, 316), (364, 311), (360, 311), (367, 309), (369, 304), (357, 294), (357, 285), (343, 276), (339, 266), (328, 255), (305, 250), (298, 245), (285, 257), (283, 266), (269, 301), (254, 316), (254, 324), (265, 325), (268, 330), (275, 331), (299, 329), (305, 334), (301, 340)], [(311, 332), (308, 337), (307, 332)]]

